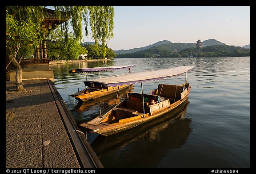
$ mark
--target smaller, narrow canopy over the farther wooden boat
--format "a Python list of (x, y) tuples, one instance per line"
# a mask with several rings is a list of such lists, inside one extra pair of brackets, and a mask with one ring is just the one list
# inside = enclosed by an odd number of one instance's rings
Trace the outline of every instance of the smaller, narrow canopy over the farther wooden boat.
[(135, 66), (135, 65), (82, 68), (82, 69), (69, 70), (68, 72), (69, 73), (89, 73), (89, 72), (100, 72), (100, 71), (110, 71), (110, 70), (123, 70), (123, 69), (126, 69), (126, 68), (131, 68), (132, 66)]

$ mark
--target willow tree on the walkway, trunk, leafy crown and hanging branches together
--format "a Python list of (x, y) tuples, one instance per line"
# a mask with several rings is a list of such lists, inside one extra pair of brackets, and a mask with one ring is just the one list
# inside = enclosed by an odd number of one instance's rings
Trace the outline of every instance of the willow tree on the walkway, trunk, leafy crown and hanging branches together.
[[(42, 28), (46, 6), (6, 6), (6, 69), (9, 64), (16, 70), (16, 89), (24, 90), (20, 61), (31, 47), (36, 48), (45, 34)], [(69, 26), (72, 27), (76, 42), (83, 40), (82, 28), (88, 37), (91, 27), (92, 39), (104, 46), (113, 37), (113, 6), (52, 6), (59, 19), (67, 19), (61, 24), (62, 32), (68, 40)], [(106, 51), (104, 52), (106, 55)]]

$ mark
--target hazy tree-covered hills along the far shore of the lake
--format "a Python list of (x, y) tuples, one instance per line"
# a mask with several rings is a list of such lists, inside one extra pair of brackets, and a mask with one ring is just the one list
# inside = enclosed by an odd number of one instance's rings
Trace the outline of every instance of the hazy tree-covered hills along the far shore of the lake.
[(114, 53), (117, 54), (116, 58), (250, 56), (250, 44), (243, 47), (228, 46), (216, 39), (208, 39), (202, 42), (202, 46), (202, 49), (197, 49), (196, 43), (172, 43), (163, 40), (141, 48), (114, 50)]

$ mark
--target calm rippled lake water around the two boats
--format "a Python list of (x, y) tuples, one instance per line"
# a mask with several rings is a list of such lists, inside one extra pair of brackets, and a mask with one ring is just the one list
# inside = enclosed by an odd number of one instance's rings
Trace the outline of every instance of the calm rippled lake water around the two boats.
[[(188, 73), (191, 92), (182, 107), (150, 124), (109, 137), (87, 133), (105, 168), (250, 168), (250, 57), (120, 58), (50, 68), (54, 69), (56, 89), (81, 124), (98, 116), (100, 110), (107, 112), (116, 99), (80, 104), (69, 94), (84, 89), (86, 73), (70, 74), (68, 70), (132, 64), (136, 64), (132, 72), (194, 66)], [(124, 73), (128, 70), (100, 75)], [(88, 74), (88, 80), (97, 78), (98, 73)], [(144, 93), (159, 83), (180, 85), (184, 79), (182, 75), (143, 83)], [(141, 93), (141, 85), (135, 84), (133, 92)]]

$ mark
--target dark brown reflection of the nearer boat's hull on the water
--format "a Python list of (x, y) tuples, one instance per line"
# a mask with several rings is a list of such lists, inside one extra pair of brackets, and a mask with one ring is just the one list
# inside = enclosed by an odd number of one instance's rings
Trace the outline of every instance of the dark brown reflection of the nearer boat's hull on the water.
[[(184, 101), (180, 107), (148, 122), (148, 124), (137, 126), (110, 137), (97, 136), (91, 143), (92, 149), (97, 155), (100, 155), (107, 151), (112, 151), (119, 146), (125, 146), (125, 144), (136, 139), (145, 139), (143, 137), (147, 137), (149, 141), (151, 140), (154, 143), (152, 145), (154, 151), (161, 150), (163, 154), (166, 149), (179, 148), (186, 142), (189, 133), (192, 131), (192, 128), (189, 127), (191, 119), (186, 117), (188, 103), (188, 100)], [(153, 141), (154, 139), (157, 139), (157, 141)], [(144, 141), (144, 143), (147, 143), (148, 140)], [(166, 149), (163, 148), (164, 144)], [(143, 151), (147, 151), (147, 149), (149, 151), (149, 148), (149, 146), (144, 146)]]

